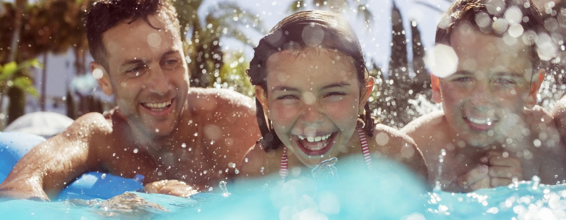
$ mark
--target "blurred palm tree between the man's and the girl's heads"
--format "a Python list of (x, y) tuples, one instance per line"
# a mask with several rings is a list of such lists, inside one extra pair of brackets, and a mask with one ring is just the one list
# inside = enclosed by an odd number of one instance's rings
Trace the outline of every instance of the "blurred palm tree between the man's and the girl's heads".
[[(197, 11), (202, 3), (202, 0), (174, 2), (189, 58), (191, 86), (195, 87), (209, 87), (215, 78), (220, 77), (219, 71), (224, 65), (221, 37), (231, 36), (244, 45), (252, 46), (253, 42), (242, 27), (263, 33), (261, 20), (236, 3), (214, 5), (209, 8), (207, 16), (201, 19)], [(191, 39), (187, 40), (189, 35)]]

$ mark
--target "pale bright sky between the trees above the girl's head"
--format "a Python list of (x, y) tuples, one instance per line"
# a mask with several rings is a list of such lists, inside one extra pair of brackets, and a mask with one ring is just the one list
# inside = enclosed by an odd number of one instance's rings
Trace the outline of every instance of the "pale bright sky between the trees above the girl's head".
[[(349, 2), (354, 1), (356, 0), (349, 0)], [(215, 4), (221, 4), (222, 2), (226, 1), (205, 1), (205, 5), (203, 5), (204, 7), (201, 7), (199, 14), (204, 15), (208, 10), (210, 10), (210, 7), (213, 7)], [(240, 0), (229, 2), (237, 2), (238, 5), (244, 8), (247, 12), (259, 15), (259, 17), (263, 20), (264, 28), (269, 30), (279, 20), (291, 14), (289, 7), (291, 3), (296, 1)], [(315, 9), (314, 6), (308, 5), (312, 2), (311, 0), (307, 0), (305, 2), (307, 3), (305, 9)], [(364, 1), (361, 0), (361, 2)], [(391, 8), (393, 2), (396, 3), (403, 18), (403, 24), (406, 31), (405, 36), (409, 40), (409, 60), (411, 60), (410, 20), (417, 21), (418, 28), (421, 31), (422, 43), (425, 48), (430, 48), (434, 45), (436, 25), (441, 18), (441, 13), (438, 10), (423, 6), (418, 2), (428, 3), (439, 8), (441, 11), (446, 10), (449, 6), (449, 0), (367, 0), (365, 2), (368, 10), (372, 12), (374, 17), (374, 20), (369, 27), (365, 27), (363, 18), (358, 16), (358, 14), (353, 10), (346, 10), (346, 12), (342, 12), (342, 14), (348, 18), (350, 25), (355, 30), (362, 45), (362, 50), (366, 54), (366, 62), (370, 61), (370, 59), (375, 59), (378, 64), (381, 64), (384, 70), (387, 70), (391, 51)], [(351, 6), (354, 6), (354, 4), (351, 4)], [(261, 34), (255, 32), (251, 28), (248, 33), (250, 33), (250, 37), (254, 41), (253, 44), (256, 45), (261, 38)], [(238, 50), (239, 48), (243, 48), (248, 60), (250, 60), (253, 55), (251, 46), (245, 46), (234, 40), (234, 38), (225, 37), (224, 39), (221, 39), (221, 42), (223, 48), (226, 50)]]

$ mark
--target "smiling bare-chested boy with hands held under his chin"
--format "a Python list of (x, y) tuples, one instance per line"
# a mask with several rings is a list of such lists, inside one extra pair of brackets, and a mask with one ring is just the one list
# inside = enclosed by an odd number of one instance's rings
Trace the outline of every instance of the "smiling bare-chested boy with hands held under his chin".
[(529, 36), (544, 37), (542, 27), (529, 0), (460, 0), (440, 22), (435, 54), (454, 54), (458, 61), (453, 72), (431, 75), (433, 99), (443, 111), (403, 131), (445, 191), (505, 186), (535, 175), (546, 184), (566, 178), (564, 143), (550, 114), (536, 105), (541, 59), (548, 57)]

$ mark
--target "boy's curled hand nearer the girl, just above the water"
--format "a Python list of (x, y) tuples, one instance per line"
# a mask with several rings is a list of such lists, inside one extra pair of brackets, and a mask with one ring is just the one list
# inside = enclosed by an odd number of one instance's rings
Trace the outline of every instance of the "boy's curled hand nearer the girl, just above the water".
[(458, 177), (452, 186), (445, 188), (448, 192), (471, 192), (481, 188), (490, 188), (490, 176), (487, 175), (489, 168), (487, 165), (479, 165), (466, 174)]

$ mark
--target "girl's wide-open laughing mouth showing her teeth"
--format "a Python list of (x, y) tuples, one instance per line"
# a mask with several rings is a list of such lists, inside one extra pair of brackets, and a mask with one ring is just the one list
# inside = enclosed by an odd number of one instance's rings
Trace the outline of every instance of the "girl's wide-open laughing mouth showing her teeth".
[(338, 132), (325, 133), (317, 136), (294, 135), (295, 142), (308, 156), (320, 156), (328, 152), (335, 143)]

